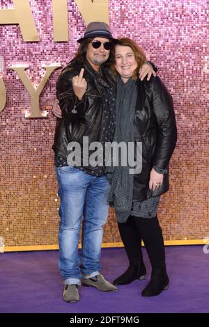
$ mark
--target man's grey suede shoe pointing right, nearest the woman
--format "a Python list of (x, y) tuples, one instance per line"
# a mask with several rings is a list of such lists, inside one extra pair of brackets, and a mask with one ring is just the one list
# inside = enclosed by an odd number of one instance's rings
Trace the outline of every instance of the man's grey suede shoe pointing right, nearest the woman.
[(117, 290), (117, 287), (105, 280), (101, 273), (93, 278), (82, 278), (82, 285), (96, 287), (102, 292), (115, 292)]

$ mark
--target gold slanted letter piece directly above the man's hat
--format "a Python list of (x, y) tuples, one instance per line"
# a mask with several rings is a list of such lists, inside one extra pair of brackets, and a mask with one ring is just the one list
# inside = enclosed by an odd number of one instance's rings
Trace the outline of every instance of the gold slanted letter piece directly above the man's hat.
[(105, 22), (109, 24), (108, 0), (75, 0), (86, 24)]

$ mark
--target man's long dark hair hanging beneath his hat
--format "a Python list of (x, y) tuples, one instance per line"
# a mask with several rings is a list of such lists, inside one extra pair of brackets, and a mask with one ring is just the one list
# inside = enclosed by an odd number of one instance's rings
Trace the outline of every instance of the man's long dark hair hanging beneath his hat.
[[(91, 41), (93, 41), (94, 38), (86, 38), (80, 45), (79, 48), (77, 49), (77, 53), (75, 54), (75, 57), (72, 58), (72, 60), (70, 61), (70, 63), (73, 63), (75, 61), (80, 61), (83, 62), (84, 58), (86, 58), (86, 51), (87, 51), (87, 47), (89, 45), (89, 43)], [(111, 42), (111, 41), (110, 41)], [(113, 44), (113, 48), (114, 48), (114, 44)], [(102, 65), (103, 67), (111, 67), (111, 65), (114, 63), (114, 55), (113, 55), (114, 49), (110, 50), (109, 53), (109, 58), (107, 59), (107, 61)]]

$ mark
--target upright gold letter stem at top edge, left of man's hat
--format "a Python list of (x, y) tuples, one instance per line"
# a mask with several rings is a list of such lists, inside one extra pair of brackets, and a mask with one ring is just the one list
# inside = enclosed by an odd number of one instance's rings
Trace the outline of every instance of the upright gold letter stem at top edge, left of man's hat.
[(68, 41), (68, 1), (52, 0), (54, 42)]

